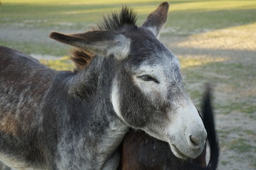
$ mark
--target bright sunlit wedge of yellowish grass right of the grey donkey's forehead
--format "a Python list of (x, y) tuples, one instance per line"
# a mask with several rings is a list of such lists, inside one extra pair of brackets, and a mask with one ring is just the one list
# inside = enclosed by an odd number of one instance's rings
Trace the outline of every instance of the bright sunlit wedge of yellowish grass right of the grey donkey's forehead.
[(178, 46), (195, 49), (256, 51), (255, 30), (256, 22), (242, 26), (213, 30), (207, 33), (191, 35), (186, 42), (178, 43)]

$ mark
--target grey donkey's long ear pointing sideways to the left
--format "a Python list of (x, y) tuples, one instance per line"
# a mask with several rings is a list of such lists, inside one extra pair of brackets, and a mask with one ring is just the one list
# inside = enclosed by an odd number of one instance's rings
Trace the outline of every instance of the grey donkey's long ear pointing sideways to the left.
[(50, 38), (80, 47), (95, 55), (108, 56), (113, 54), (119, 59), (123, 59), (129, 54), (131, 42), (124, 35), (110, 30), (93, 30), (87, 33), (69, 35), (52, 32)]

